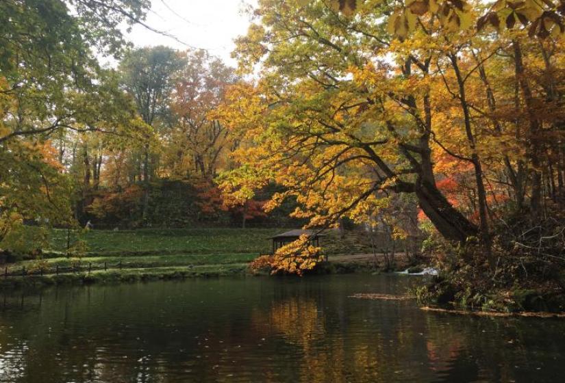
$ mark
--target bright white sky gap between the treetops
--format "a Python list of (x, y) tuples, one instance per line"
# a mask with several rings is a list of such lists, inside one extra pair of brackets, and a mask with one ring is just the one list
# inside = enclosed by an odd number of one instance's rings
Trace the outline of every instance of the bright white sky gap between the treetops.
[[(127, 40), (137, 47), (167, 45), (184, 50), (206, 49), (225, 63), (236, 66), (230, 57), (234, 38), (249, 27), (249, 16), (242, 12), (255, 0), (152, 0), (145, 23), (175, 36), (181, 42), (135, 25)], [(184, 44), (182, 43), (184, 42)], [(187, 46), (188, 44), (188, 46)]]

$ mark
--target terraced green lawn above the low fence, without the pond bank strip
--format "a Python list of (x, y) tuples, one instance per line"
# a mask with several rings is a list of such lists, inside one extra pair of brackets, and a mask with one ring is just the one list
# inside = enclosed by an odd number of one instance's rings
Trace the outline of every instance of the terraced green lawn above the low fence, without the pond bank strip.
[[(29, 227), (33, 234), (36, 228)], [(86, 254), (79, 259), (66, 257), (67, 230), (53, 229), (46, 254), (41, 263), (37, 259), (5, 265), (12, 275), (68, 272), (133, 272), (134, 269), (171, 268), (195, 272), (208, 267), (219, 270), (235, 265), (244, 266), (260, 254), (271, 250), (273, 235), (285, 229), (264, 228), (185, 228), (140, 230), (88, 230), (71, 232), (70, 243), (77, 239), (86, 242)], [(4, 270), (2, 270), (3, 272)]]

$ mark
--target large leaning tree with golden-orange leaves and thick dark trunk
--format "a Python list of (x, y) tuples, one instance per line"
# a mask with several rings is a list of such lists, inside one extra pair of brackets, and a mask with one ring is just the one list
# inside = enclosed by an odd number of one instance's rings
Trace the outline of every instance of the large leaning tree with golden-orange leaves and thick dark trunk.
[[(239, 42), (244, 57), (249, 57), (248, 47), (266, 50), (276, 42), (264, 61), (272, 75), (260, 89), (268, 92), (261, 95), (267, 100), (265, 104), (272, 105), (268, 116), (281, 118), (279, 124), (264, 124), (268, 133), (273, 133), (271, 142), (280, 146), (271, 147), (268, 161), (261, 158), (258, 162), (264, 161), (268, 167), (280, 161), (294, 163), (294, 174), (300, 178), (293, 178), (307, 187), (294, 183), (288, 187), (301, 189), (301, 202), (318, 210), (323, 220), (334, 220), (368, 201), (378, 204), (373, 198), (379, 192), (415, 192), (420, 207), (446, 237), (464, 241), (476, 235), (475, 225), (453, 209), (436, 187), (429, 110), (417, 105), (418, 101), (427, 103), (429, 96), (422, 88), (419, 92), (414, 88), (410, 94), (412, 89), (403, 86), (403, 81), (414, 82), (412, 67), (426, 69), (425, 62), (407, 59), (398, 75), (389, 77), (388, 65), (381, 60), (381, 68), (375, 68), (379, 79), (371, 79), (372, 83), (378, 81), (379, 87), (368, 88), (363, 81), (347, 77), (351, 77), (351, 68), (368, 68), (367, 51), (386, 49), (388, 37), (379, 25), (366, 25), (370, 28), (366, 35), (377, 36), (368, 41), (363, 35), (355, 36), (323, 3), (312, 3), (305, 12), (288, 18), (281, 18), (292, 14), (287, 3), (262, 5), (259, 12), (264, 12), (268, 34)], [(346, 37), (334, 38), (338, 30), (347, 32)], [(362, 76), (357, 72), (358, 79)], [(266, 109), (258, 113), (266, 114)], [(329, 192), (333, 198), (327, 196)]]

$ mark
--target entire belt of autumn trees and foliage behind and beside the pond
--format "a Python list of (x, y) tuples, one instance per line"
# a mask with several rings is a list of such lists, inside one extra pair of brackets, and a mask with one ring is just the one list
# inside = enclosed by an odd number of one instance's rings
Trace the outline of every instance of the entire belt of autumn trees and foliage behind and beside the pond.
[(30, 221), (244, 226), (266, 209), (431, 226), (491, 267), (563, 255), (562, 1), (260, 0), (238, 69), (127, 47), (148, 8), (0, 3), (0, 240)]

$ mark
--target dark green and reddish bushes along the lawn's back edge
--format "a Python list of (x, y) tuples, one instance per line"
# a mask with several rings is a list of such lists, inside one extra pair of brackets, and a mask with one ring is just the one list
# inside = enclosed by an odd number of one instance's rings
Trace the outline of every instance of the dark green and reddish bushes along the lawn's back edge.
[(300, 227), (305, 220), (289, 217), (296, 204), (289, 200), (271, 213), (262, 210), (264, 201), (279, 189), (275, 185), (242, 206), (227, 207), (216, 186), (204, 181), (162, 179), (149, 184), (147, 215), (143, 218), (144, 189), (133, 183), (115, 190), (91, 190), (77, 204), (81, 226), (94, 228), (182, 228), (194, 225), (222, 227)]

